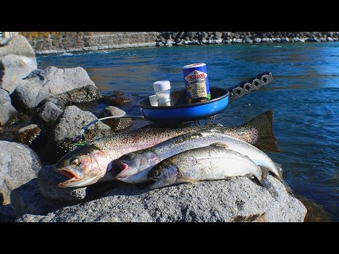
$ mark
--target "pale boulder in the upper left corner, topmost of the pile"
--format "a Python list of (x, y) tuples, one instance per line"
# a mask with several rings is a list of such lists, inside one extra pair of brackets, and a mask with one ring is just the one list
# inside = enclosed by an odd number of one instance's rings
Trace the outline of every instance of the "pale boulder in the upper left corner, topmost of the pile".
[(4, 40), (0, 45), (0, 88), (11, 93), (16, 85), (37, 68), (37, 59), (23, 35)]

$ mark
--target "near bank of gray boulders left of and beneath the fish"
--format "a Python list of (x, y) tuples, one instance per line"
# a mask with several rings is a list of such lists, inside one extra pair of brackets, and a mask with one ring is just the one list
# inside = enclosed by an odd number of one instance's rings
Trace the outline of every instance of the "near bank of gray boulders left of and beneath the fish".
[[(270, 188), (246, 177), (153, 191), (120, 181), (59, 188), (66, 176), (54, 164), (73, 149), (73, 138), (98, 117), (126, 114), (112, 105), (132, 99), (119, 91), (102, 95), (81, 67), (39, 69), (22, 35), (1, 41), (0, 222), (304, 221), (307, 208), (273, 176)], [(90, 102), (107, 107), (97, 115), (80, 108)], [(99, 121), (85, 140), (126, 131), (132, 123)]]

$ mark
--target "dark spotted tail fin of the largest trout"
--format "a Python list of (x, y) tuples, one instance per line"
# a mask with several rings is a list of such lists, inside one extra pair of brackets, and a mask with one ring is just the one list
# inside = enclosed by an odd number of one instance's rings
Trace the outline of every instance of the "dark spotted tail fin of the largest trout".
[(278, 141), (273, 133), (273, 115), (273, 110), (268, 110), (242, 124), (242, 126), (246, 128), (254, 127), (258, 131), (257, 141), (252, 145), (260, 150), (280, 152)]

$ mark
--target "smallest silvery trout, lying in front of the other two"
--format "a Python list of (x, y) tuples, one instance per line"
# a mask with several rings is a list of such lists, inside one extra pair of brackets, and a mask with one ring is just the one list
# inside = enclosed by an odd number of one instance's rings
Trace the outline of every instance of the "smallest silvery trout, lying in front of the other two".
[(158, 163), (148, 172), (148, 180), (155, 181), (150, 189), (176, 183), (231, 179), (236, 176), (256, 177), (261, 182), (263, 171), (248, 156), (227, 149), (220, 143), (194, 148), (173, 155)]

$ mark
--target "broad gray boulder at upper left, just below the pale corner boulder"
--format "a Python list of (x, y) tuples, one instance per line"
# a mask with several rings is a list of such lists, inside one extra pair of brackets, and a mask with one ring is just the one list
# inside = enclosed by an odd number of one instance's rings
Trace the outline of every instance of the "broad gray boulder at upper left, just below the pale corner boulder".
[[(43, 99), (88, 85), (97, 90), (87, 72), (81, 67), (62, 69), (52, 66), (38, 69), (18, 83), (12, 96), (13, 104), (24, 109), (36, 107)], [(87, 94), (85, 92), (85, 97)], [(80, 101), (79, 99), (78, 102)]]

